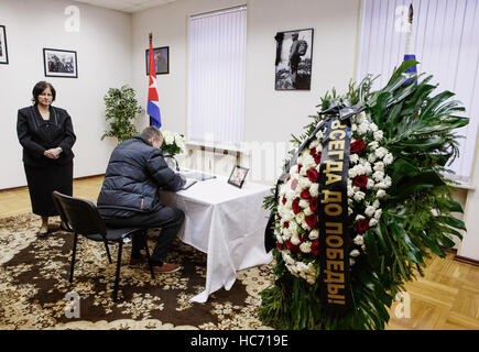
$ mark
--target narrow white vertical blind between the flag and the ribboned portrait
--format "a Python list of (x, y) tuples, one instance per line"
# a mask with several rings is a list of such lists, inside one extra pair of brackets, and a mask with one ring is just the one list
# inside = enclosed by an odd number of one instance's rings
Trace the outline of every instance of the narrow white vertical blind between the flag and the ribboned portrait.
[(242, 142), (246, 38), (246, 7), (189, 18), (189, 141)]

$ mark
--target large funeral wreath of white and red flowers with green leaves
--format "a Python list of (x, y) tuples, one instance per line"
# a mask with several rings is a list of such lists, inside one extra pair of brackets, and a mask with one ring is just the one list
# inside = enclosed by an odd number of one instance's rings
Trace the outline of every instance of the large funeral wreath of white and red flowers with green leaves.
[(466, 230), (447, 168), (468, 123), (432, 76), (406, 73), (334, 89), (264, 200), (275, 258), (260, 319), (277, 329), (383, 329), (394, 296)]

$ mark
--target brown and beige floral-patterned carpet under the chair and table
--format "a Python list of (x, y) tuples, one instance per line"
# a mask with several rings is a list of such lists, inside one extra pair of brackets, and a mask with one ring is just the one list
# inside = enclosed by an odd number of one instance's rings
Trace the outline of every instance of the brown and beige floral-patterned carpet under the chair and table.
[[(54, 219), (57, 229), (59, 219)], [(156, 274), (128, 266), (131, 243), (123, 246), (119, 300), (111, 297), (116, 249), (109, 264), (102, 243), (79, 238), (75, 276), (68, 283), (73, 234), (65, 231), (37, 239), (40, 218), (21, 215), (0, 219), (0, 329), (144, 330), (270, 329), (258, 320), (259, 293), (272, 279), (272, 264), (237, 273), (227, 292), (213, 294), (206, 304), (189, 302), (204, 289), (206, 254), (176, 240), (168, 258), (183, 270)], [(150, 230), (151, 251), (159, 230)], [(79, 295), (79, 318), (68, 293)]]

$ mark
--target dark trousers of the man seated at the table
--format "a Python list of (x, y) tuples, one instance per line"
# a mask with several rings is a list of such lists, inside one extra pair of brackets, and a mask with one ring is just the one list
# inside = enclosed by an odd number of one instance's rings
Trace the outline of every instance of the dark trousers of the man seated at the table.
[[(131, 217), (108, 217), (104, 218), (108, 227), (111, 228), (128, 228), (128, 227), (141, 227), (141, 228), (162, 228), (162, 231), (157, 238), (156, 246), (151, 255), (153, 265), (162, 265), (163, 261), (168, 253), (170, 244), (175, 240), (179, 228), (185, 220), (185, 213), (175, 208), (161, 207), (152, 212), (135, 212)], [(144, 237), (132, 237), (131, 243), (131, 256), (141, 257), (140, 250), (143, 249)]]

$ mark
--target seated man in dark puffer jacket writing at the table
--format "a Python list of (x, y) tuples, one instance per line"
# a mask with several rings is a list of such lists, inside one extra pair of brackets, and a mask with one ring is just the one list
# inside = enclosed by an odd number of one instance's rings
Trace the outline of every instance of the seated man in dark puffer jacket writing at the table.
[[(162, 228), (151, 260), (157, 273), (172, 273), (179, 265), (164, 263), (170, 244), (185, 219), (182, 210), (160, 202), (159, 188), (179, 190), (185, 179), (166, 165), (160, 150), (163, 136), (148, 127), (111, 153), (97, 207), (109, 227)], [(141, 238), (133, 235), (130, 264), (142, 261)]]

